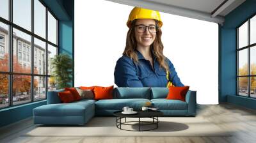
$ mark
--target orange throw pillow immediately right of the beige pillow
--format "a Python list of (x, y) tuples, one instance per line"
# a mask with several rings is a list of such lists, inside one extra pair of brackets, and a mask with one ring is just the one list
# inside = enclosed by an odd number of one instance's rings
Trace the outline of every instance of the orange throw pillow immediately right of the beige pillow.
[(93, 89), (95, 94), (94, 96), (95, 100), (112, 99), (113, 88), (114, 86), (109, 86), (109, 87), (95, 86)]

